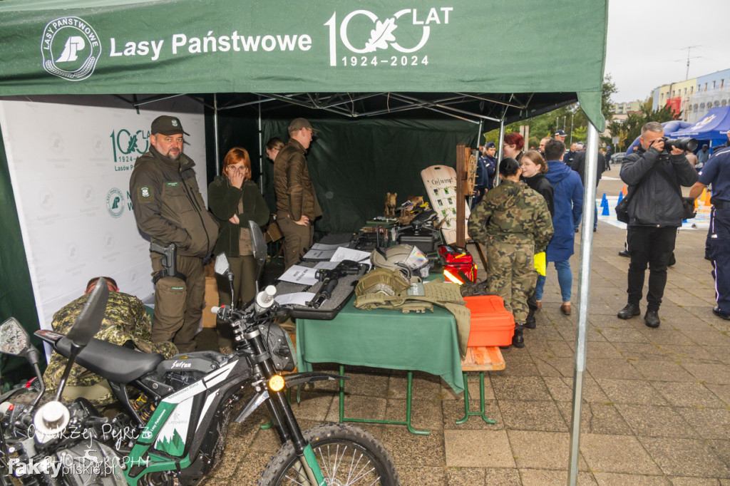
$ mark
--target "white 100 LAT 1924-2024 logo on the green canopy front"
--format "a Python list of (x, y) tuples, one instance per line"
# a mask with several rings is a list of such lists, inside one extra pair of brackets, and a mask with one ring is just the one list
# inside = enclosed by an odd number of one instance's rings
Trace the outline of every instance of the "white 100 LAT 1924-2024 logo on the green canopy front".
[[(345, 55), (338, 59), (337, 56), (337, 13), (324, 24), (329, 27), (329, 65), (330, 66), (418, 66), (427, 65), (429, 63), (428, 55), (416, 55), (423, 46), (429, 42), (431, 35), (431, 26), (446, 25), (449, 23), (449, 14), (453, 11), (453, 7), (441, 7), (440, 9), (431, 8), (425, 18), (418, 16), (417, 9), (402, 9), (393, 14), (392, 17), (380, 20), (373, 12), (369, 10), (356, 10), (350, 12), (342, 19), (339, 25), (339, 40), (350, 50), (351, 53), (361, 55)], [(364, 42), (353, 45), (350, 42), (349, 26), (353, 18), (365, 17), (369, 19), (373, 28), (370, 30), (369, 38)], [(358, 18), (357, 20), (363, 20)], [(367, 20), (366, 20), (367, 21)], [(398, 22), (402, 21), (405, 25), (420, 26), (422, 34), (420, 41), (415, 46), (403, 46), (396, 39), (398, 34)], [(364, 39), (362, 39), (364, 40)], [(374, 53), (377, 50), (387, 50), (393, 47), (398, 51), (396, 55), (385, 55), (378, 57), (377, 55), (363, 55)]]

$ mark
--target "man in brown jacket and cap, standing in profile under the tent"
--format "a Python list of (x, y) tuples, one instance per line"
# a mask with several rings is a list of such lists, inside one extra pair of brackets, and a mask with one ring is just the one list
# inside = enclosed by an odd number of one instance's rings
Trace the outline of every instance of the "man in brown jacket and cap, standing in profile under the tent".
[(317, 131), (296, 118), (289, 125), (289, 142), (274, 161), (277, 223), (284, 234), (284, 266), (299, 262), (312, 246), (315, 219), (322, 215), (304, 153)]

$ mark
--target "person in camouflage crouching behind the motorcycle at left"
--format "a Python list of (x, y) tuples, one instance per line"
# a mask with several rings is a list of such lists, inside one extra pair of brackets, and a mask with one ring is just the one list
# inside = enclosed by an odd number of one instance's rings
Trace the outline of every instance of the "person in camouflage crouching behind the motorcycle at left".
[[(53, 315), (53, 331), (66, 334), (71, 330), (99, 278), (91, 279), (83, 296), (66, 304)], [(104, 320), (101, 321), (101, 329), (94, 337), (112, 344), (132, 347), (142, 352), (158, 352), (166, 359), (177, 355), (177, 347), (172, 342), (153, 344), (152, 325), (145, 310), (145, 304), (142, 304), (142, 301), (135, 296), (119, 292), (114, 279), (110, 279), (110, 277), (104, 277), (104, 279), (107, 280), (110, 290), (109, 300), (104, 312)], [(43, 374), (43, 380), (48, 390), (53, 391), (58, 387), (67, 361), (57, 352), (51, 356), (50, 363)], [(78, 364), (74, 364), (71, 369), (63, 396), (71, 399), (88, 398), (96, 406), (109, 405), (115, 401), (107, 380)]]

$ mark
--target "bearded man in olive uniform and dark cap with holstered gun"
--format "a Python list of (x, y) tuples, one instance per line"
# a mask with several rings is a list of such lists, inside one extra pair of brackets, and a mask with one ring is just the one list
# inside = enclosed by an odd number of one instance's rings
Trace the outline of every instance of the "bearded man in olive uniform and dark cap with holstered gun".
[(173, 342), (180, 352), (193, 352), (195, 333), (204, 308), (203, 258), (210, 255), (218, 237), (218, 223), (205, 209), (193, 166), (183, 154), (183, 125), (176, 117), (160, 116), (152, 122), (152, 147), (137, 158), (129, 180), (134, 217), (150, 242), (174, 244), (176, 272), (169, 275), (163, 255), (153, 252), (155, 315), (152, 341)]

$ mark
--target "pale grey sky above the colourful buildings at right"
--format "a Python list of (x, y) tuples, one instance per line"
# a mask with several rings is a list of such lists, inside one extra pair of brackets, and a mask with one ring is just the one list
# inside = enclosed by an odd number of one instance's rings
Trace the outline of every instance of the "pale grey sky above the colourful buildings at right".
[(644, 100), (652, 90), (730, 68), (729, 0), (609, 0), (605, 74), (613, 101)]

